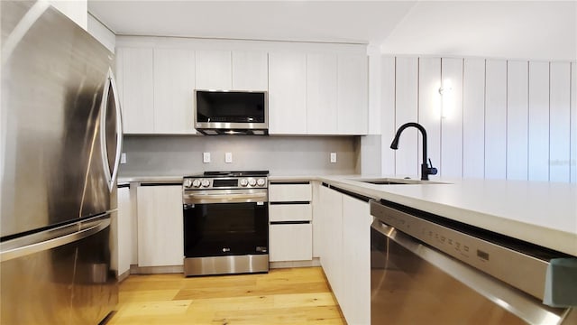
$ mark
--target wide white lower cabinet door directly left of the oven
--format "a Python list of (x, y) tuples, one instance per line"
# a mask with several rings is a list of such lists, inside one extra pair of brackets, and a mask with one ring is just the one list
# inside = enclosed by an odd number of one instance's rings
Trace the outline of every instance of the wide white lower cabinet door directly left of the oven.
[(182, 187), (141, 186), (137, 206), (138, 265), (183, 265)]

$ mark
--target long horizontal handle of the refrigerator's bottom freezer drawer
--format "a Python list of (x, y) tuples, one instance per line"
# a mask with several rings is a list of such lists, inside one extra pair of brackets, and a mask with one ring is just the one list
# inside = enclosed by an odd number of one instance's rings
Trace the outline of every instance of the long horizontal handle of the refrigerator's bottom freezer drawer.
[(60, 237), (49, 237), (48, 239), (45, 239), (42, 238), (41, 236), (38, 236), (39, 238), (41, 238), (40, 240), (34, 241), (32, 242), (32, 244), (25, 246), (10, 245), (9, 242), (2, 243), (0, 245), (0, 262), (5, 262), (25, 255), (31, 255), (34, 253), (42, 252), (45, 250), (49, 250), (50, 248), (64, 246), (66, 244), (73, 243), (80, 239), (90, 237), (96, 234), (97, 232), (109, 227), (110, 218), (105, 219), (97, 218), (96, 220), (93, 221), (78, 222), (77, 224), (68, 226), (61, 230), (66, 231), (67, 229), (69, 230), (70, 228), (78, 229), (82, 226), (85, 228), (82, 228), (80, 230), (74, 231), (72, 233)]

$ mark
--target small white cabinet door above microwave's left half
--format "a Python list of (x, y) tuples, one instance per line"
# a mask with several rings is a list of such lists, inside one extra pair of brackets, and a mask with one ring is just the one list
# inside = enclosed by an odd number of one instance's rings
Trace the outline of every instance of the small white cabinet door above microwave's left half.
[(197, 89), (231, 89), (231, 51), (196, 52)]

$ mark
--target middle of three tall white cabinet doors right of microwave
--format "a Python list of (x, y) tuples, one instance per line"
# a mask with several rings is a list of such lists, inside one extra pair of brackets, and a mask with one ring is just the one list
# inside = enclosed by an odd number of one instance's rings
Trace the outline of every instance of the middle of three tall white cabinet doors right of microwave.
[(307, 54), (307, 134), (336, 135), (336, 54)]

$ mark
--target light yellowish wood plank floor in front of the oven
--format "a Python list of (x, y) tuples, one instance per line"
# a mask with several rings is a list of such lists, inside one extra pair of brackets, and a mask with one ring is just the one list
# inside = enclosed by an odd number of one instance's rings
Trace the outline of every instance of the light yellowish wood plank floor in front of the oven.
[(320, 267), (185, 278), (131, 275), (115, 324), (346, 324)]

